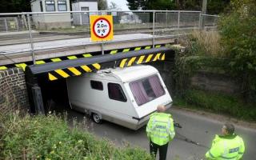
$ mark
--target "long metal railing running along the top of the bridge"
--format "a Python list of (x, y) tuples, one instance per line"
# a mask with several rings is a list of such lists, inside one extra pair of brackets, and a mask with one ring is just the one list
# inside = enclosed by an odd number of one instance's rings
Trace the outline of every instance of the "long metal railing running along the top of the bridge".
[[(122, 35), (132, 34), (131, 37), (152, 39), (152, 46), (155, 45), (155, 38), (177, 37), (181, 34), (190, 34), (191, 30), (214, 29), (218, 21), (216, 15), (186, 10), (6, 13), (0, 14), (0, 46), (23, 44), (23, 49), (16, 50), (15, 53), (29, 50), (35, 62), (34, 52), (47, 50), (49, 42), (55, 42), (53, 47), (56, 48), (88, 44), (90, 43), (90, 15), (93, 14), (113, 15), (114, 41), (117, 39), (129, 41), (127, 36)], [(66, 46), (56, 41), (65, 39), (72, 39), (72, 41)], [(78, 39), (82, 39), (82, 43), (79, 43)], [(46, 44), (38, 46), (39, 42), (46, 42)], [(103, 44), (106, 42), (99, 43), (102, 43), (103, 50)]]

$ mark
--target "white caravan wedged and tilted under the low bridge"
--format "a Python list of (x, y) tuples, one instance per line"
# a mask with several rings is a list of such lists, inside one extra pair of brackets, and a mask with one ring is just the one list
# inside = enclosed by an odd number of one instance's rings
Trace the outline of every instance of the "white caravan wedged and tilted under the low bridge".
[(158, 105), (169, 108), (170, 94), (153, 66), (98, 70), (67, 79), (70, 106), (92, 116), (138, 130)]

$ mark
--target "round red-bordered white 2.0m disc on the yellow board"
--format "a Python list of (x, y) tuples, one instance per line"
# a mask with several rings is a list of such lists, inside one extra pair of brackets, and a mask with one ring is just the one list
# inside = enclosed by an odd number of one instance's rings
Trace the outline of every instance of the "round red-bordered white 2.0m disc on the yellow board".
[(110, 22), (106, 18), (96, 19), (93, 25), (93, 32), (97, 38), (106, 38), (111, 32)]

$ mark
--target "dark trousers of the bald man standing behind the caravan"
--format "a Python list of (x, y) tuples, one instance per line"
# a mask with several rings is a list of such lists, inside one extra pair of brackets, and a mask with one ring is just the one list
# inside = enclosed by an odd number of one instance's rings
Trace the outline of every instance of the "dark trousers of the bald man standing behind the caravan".
[(168, 142), (165, 145), (159, 146), (150, 141), (150, 154), (154, 154), (154, 157), (156, 157), (159, 150), (159, 160), (166, 160), (167, 149)]

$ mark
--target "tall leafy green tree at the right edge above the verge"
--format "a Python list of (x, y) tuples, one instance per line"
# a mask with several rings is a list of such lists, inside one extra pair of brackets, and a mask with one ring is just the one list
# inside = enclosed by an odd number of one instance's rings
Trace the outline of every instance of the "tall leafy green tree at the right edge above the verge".
[(222, 46), (232, 71), (242, 79), (242, 94), (256, 102), (256, 1), (232, 0), (231, 11), (219, 22)]

